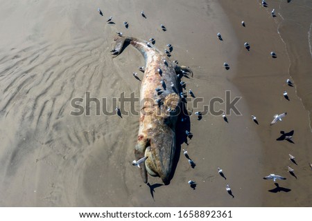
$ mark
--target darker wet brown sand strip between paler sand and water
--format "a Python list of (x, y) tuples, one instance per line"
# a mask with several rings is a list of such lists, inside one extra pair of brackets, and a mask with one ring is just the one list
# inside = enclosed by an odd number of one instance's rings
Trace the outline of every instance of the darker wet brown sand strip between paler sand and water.
[[(309, 175), (309, 169), (307, 164), (309, 162), (309, 156), (311, 155), (311, 150), (306, 142), (312, 141), (310, 126), (307, 124), (309, 122), (309, 115), (304, 109), (304, 105), (301, 100), (297, 97), (295, 89), (288, 87), (286, 85), (286, 79), (290, 78), (288, 73), (288, 66), (290, 65), (290, 60), (288, 59), (288, 52), (286, 52), (286, 46), (284, 42), (279, 37), (277, 32), (277, 18), (272, 18), (268, 10), (272, 8), (263, 8), (259, 2), (248, 2), (243, 3), (225, 3), (225, 1), (220, 1), (221, 5), (227, 12), (227, 15), (231, 18), (230, 21), (232, 25), (236, 28), (236, 35), (241, 39), (241, 53), (239, 55), (239, 70), (240, 72), (233, 79), (233, 83), (238, 86), (241, 93), (243, 93), (248, 106), (255, 113), (259, 119), (259, 127), (257, 127), (257, 133), (261, 137), (261, 145), (263, 148), (263, 170), (266, 173), (278, 173), (287, 177), (288, 182), (282, 183), (283, 187), (293, 187), (289, 188), (290, 191), (287, 195), (279, 196), (279, 198), (274, 198), (273, 195), (264, 194), (263, 195), (263, 206), (300, 206), (302, 204), (309, 205), (311, 200), (306, 197), (304, 191), (297, 189), (296, 185), (305, 186), (304, 189), (309, 189), (303, 181), (292, 180), (293, 177), (287, 174), (287, 167), (291, 166), (288, 162), (288, 153), (295, 153), (293, 155), (300, 156), (300, 163), (298, 163), (299, 168), (295, 167), (296, 173), (300, 175), (307, 176), (311, 179), (311, 174)], [(234, 7), (235, 5), (235, 7)], [(251, 15), (248, 12), (237, 13), (235, 9), (246, 7), (249, 8), (254, 13)], [(239, 27), (241, 20), (246, 23), (245, 28)], [(257, 21), (257, 22), (256, 22)], [(278, 22), (277, 22), (278, 23)], [(247, 52), (243, 48), (243, 41), (248, 41), (251, 45), (250, 51)], [(300, 43), (297, 43), (300, 44)], [(272, 59), (269, 55), (270, 50), (275, 50), (277, 52), (277, 59)], [(261, 65), (263, 64), (263, 65)], [(288, 64), (288, 66), (284, 65)], [(257, 70), (252, 68), (252, 66), (257, 66)], [(286, 74), (285, 74), (286, 73)], [(275, 84), (276, 82), (276, 84)], [(252, 90), (254, 88), (254, 90)], [(296, 85), (297, 88), (297, 85)], [(282, 92), (287, 90), (291, 101), (288, 102), (284, 99)], [(252, 93), (250, 93), (252, 91)], [(275, 110), (274, 112), (271, 111)], [(279, 125), (268, 126), (269, 122), (272, 120), (271, 115), (275, 113), (288, 112), (288, 119), (284, 119), (283, 122), (278, 123)], [(268, 115), (269, 114), (269, 115)], [(263, 125), (267, 122), (267, 126)], [(283, 125), (284, 124), (284, 125)], [(291, 131), (294, 129), (294, 137), (298, 142), (295, 142), (295, 146), (291, 144), (285, 144), (282, 142), (277, 142), (276, 138), (279, 136), (278, 131)], [(299, 131), (299, 135), (298, 135)], [(295, 139), (294, 138), (294, 139)], [(302, 143), (300, 142), (302, 141)], [(294, 145), (294, 144), (293, 144)], [(304, 145), (304, 146), (302, 146)], [(298, 147), (302, 149), (298, 149)], [(284, 153), (281, 155), (281, 153)], [(304, 163), (303, 163), (304, 162)], [(266, 172), (267, 171), (267, 172)], [(275, 172), (276, 171), (276, 172)], [(298, 184), (298, 182), (300, 184)], [(306, 182), (306, 181), (304, 181)], [(296, 184), (297, 183), (297, 184)], [(281, 185), (282, 185), (281, 184)], [(274, 187), (268, 182), (263, 182), (263, 193), (270, 193), (274, 191)], [(293, 193), (296, 191), (296, 195), (301, 195), (301, 200), (293, 202), (290, 199), (293, 198)]]

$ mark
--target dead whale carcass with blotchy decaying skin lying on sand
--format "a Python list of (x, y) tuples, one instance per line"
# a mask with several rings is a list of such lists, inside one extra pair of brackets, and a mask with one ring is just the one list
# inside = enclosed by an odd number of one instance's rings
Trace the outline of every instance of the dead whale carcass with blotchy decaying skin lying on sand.
[[(119, 55), (125, 44), (131, 44), (144, 55), (146, 66), (141, 83), (141, 112), (135, 158), (139, 160), (148, 157), (145, 164), (141, 165), (141, 177), (145, 183), (149, 173), (161, 177), (164, 184), (168, 184), (175, 155), (175, 124), (181, 102), (176, 72), (184, 70), (191, 73), (191, 70), (178, 66), (164, 52), (153, 45), (148, 46), (147, 41), (120, 36), (114, 37), (114, 41), (116, 46), (112, 55)], [(157, 92), (156, 88), (161, 90)]]

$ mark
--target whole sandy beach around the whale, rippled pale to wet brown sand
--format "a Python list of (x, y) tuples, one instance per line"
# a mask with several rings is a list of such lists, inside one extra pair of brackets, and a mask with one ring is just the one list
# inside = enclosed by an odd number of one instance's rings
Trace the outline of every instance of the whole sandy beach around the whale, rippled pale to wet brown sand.
[[(262, 8), (259, 1), (247, 0), (220, 1), (222, 8), (219, 1), (203, 0), (0, 2), (1, 206), (312, 205), (309, 112), (297, 97), (297, 80), (293, 88), (286, 85), (291, 52), (277, 33), (281, 18), (270, 17), (270, 5)], [(110, 16), (113, 24), (105, 22)], [(123, 21), (128, 21), (128, 29)], [(190, 66), (194, 73), (193, 78), (183, 78), (187, 90), (203, 98), (198, 107), (189, 102), (189, 111), (202, 111), (214, 97), (226, 99), (227, 90), (231, 100), (242, 97), (236, 105), (241, 115), (229, 113), (228, 123), (211, 113), (201, 120), (190, 116), (193, 138), (178, 147), (180, 156), (167, 186), (150, 176), (147, 186), (131, 165), (137, 115), (96, 115), (95, 102), (89, 116), (70, 115), (75, 111), (71, 100), (85, 100), (87, 92), (106, 98), (110, 113), (116, 105), (121, 107), (114, 98), (122, 93), (139, 97), (141, 84), (132, 73), (143, 76), (137, 67), (144, 66), (144, 58), (128, 46), (113, 59), (116, 32), (153, 37), (161, 50), (173, 45), (171, 60)], [(218, 32), (223, 41), (216, 37)], [(283, 35), (288, 36), (286, 31)], [(245, 41), (250, 51), (243, 47)], [(271, 50), (277, 52), (276, 59), (270, 57)], [(224, 110), (225, 104), (214, 108)], [(270, 126), (272, 116), (283, 112), (288, 113), (283, 121)], [(259, 125), (251, 115), (257, 116)], [(279, 131), (291, 130), (295, 144), (276, 140)], [(194, 169), (182, 148), (196, 163)], [(288, 160), (288, 153), (297, 165)], [(297, 179), (287, 166), (295, 169)], [(276, 187), (262, 179), (270, 173), (287, 177), (278, 182), (285, 189), (268, 191)], [(198, 183), (195, 190), (189, 180)]]

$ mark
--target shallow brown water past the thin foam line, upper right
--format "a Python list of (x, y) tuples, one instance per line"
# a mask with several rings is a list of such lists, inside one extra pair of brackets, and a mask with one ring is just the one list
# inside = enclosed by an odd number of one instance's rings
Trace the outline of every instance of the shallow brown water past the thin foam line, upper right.
[[(289, 75), (293, 78), (297, 96), (309, 111), (311, 128), (312, 111), (312, 1), (288, 0), (272, 2), (276, 8), (278, 32), (286, 45), (290, 59)], [(280, 17), (280, 20), (279, 20)]]

